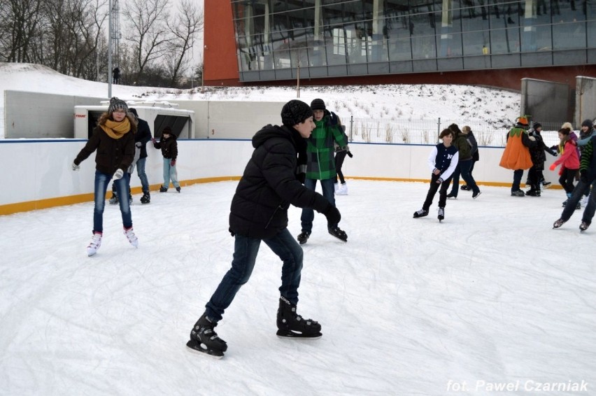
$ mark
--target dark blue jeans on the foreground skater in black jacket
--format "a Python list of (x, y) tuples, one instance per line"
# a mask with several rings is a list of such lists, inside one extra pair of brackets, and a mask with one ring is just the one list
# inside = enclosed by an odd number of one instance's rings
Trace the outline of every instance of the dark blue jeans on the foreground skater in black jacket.
[[(222, 315), (236, 296), (241, 286), (248, 282), (250, 274), (253, 274), (257, 253), (261, 239), (250, 238), (236, 234), (234, 236), (234, 259), (230, 268), (223, 277), (220, 285), (215, 290), (211, 299), (206, 304), (207, 316), (218, 322)], [(304, 254), (298, 242), (292, 237), (287, 228), (276, 236), (262, 239), (271, 250), (281, 258), (281, 287), (279, 292), (292, 304), (298, 303), (298, 287), (300, 285), (300, 274), (302, 271), (302, 258)]]

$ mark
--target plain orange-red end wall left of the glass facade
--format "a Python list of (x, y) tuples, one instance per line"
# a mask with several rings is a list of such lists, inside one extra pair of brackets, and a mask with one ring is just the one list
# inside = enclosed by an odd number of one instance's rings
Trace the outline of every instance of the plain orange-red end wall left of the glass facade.
[(204, 1), (204, 84), (240, 85), (232, 2)]

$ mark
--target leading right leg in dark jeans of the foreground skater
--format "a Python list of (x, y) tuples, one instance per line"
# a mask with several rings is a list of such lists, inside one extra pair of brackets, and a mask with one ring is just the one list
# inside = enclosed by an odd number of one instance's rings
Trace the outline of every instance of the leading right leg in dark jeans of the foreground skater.
[[(332, 180), (332, 179), (330, 179)], [(264, 239), (264, 243), (278, 255), (283, 262), (281, 267), (280, 294), (292, 304), (298, 304), (298, 288), (302, 271), (304, 253), (287, 228), (273, 238)]]

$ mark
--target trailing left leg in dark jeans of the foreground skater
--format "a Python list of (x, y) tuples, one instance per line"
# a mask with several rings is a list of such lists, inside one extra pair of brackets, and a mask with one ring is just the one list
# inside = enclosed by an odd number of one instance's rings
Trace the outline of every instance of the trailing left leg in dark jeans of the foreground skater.
[(253, 274), (257, 253), (259, 253), (260, 239), (249, 238), (236, 234), (234, 236), (234, 258), (230, 268), (215, 292), (206, 304), (207, 317), (218, 322), (222, 319), (225, 309), (232, 304), (241, 286), (248, 282)]

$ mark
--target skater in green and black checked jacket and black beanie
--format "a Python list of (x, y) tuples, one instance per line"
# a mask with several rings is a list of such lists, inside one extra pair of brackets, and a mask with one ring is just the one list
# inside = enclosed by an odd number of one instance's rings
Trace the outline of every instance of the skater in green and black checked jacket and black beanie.
[[(325, 102), (322, 99), (314, 99), (311, 102), (313, 110), (313, 120), (315, 129), (311, 137), (306, 139), (306, 178), (304, 186), (310, 190), (315, 190), (317, 181), (320, 181), (323, 197), (327, 198), (335, 206), (335, 159), (334, 146), (344, 148), (348, 146), (345, 135), (341, 129), (341, 123), (335, 113), (330, 113), (325, 108)], [(303, 208), (301, 215), (302, 232), (298, 235), (298, 242), (303, 245), (308, 241), (313, 231), (313, 220), (315, 212), (311, 208)], [(342, 241), (348, 241), (348, 235), (337, 225), (329, 225), (327, 228), (329, 234)]]

